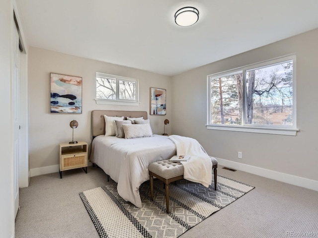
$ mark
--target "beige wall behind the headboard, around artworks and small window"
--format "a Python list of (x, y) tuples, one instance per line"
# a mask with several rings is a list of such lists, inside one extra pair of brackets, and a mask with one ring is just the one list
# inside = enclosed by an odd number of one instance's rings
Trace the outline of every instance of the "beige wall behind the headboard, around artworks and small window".
[[(82, 77), (82, 114), (50, 114), (49, 73)], [(139, 79), (139, 106), (96, 105), (96, 72)], [(76, 119), (75, 140), (91, 143), (92, 110), (150, 110), (150, 87), (167, 89), (167, 115), (149, 116), (155, 134), (163, 133), (164, 119), (171, 119), (171, 78), (130, 67), (89, 60), (38, 48), (29, 49), (30, 169), (59, 164), (59, 143), (72, 140), (70, 121)], [(166, 126), (170, 133), (171, 126)]]

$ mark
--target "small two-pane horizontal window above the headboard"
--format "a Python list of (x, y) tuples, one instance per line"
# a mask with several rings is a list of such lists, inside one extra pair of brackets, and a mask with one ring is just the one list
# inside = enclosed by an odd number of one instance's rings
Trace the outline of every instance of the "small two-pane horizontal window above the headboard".
[(96, 102), (138, 103), (138, 80), (96, 73)]

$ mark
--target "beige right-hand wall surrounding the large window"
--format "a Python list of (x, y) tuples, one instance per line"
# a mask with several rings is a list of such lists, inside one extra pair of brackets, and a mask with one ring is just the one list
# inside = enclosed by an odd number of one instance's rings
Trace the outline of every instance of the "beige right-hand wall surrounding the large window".
[[(318, 181), (317, 42), (318, 29), (172, 77), (172, 133), (196, 138), (221, 159)], [(297, 57), (297, 136), (206, 128), (207, 75), (292, 53)]]

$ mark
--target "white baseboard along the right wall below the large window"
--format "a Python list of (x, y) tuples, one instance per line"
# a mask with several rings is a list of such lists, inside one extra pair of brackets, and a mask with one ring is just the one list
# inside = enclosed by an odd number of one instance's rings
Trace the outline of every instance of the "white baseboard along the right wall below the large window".
[(229, 168), (247, 172), (253, 175), (258, 175), (268, 179), (275, 179), (281, 182), (286, 182), (296, 186), (305, 187), (305, 188), (318, 191), (318, 181), (316, 180), (297, 177), (294, 175), (288, 175), (288, 174), (284, 174), (284, 173), (280, 173), (280, 172), (276, 172), (272, 170), (267, 170), (267, 169), (263, 169), (263, 168), (259, 168), (259, 167), (255, 167), (251, 165), (241, 164), (241, 163), (230, 161), (230, 160), (225, 160), (220, 158), (216, 158), (216, 159), (218, 160), (218, 164), (225, 167), (229, 167)]

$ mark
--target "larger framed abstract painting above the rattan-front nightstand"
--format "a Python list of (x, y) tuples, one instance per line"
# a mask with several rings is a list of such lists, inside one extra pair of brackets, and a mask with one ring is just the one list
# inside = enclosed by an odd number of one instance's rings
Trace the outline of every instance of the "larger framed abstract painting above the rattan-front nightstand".
[(81, 113), (82, 78), (50, 73), (50, 113)]

